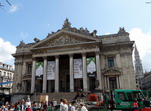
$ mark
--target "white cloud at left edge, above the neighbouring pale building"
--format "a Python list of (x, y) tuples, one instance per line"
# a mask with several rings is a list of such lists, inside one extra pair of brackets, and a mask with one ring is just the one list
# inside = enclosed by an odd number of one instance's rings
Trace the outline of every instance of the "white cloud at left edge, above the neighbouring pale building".
[(14, 58), (11, 54), (15, 53), (15, 51), (15, 46), (13, 46), (9, 41), (4, 41), (0, 38), (0, 62), (13, 66)]

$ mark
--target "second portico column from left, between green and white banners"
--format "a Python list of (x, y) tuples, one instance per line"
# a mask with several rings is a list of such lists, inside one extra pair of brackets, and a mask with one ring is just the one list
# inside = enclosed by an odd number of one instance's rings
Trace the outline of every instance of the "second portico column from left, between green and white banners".
[(47, 58), (44, 57), (44, 69), (43, 69), (43, 93), (47, 92)]

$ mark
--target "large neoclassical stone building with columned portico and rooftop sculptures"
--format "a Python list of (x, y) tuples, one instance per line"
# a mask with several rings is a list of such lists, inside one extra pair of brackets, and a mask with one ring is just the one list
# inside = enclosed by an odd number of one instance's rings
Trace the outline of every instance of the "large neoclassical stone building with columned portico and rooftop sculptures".
[[(43, 40), (17, 46), (13, 93), (75, 92), (136, 88), (132, 51), (134, 41), (120, 28), (118, 33), (96, 35), (87, 28), (62, 29)], [(96, 84), (97, 83), (97, 84)]]

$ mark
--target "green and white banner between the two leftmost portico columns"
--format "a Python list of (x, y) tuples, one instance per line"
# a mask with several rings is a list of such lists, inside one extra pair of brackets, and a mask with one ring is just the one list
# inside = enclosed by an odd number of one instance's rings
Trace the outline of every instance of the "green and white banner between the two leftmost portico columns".
[(43, 62), (37, 62), (36, 63), (36, 79), (42, 79), (43, 78)]

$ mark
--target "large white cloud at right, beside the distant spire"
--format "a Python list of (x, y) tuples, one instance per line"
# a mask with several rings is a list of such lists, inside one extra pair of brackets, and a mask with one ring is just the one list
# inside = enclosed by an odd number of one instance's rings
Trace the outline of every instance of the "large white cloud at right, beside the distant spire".
[(151, 29), (143, 32), (141, 28), (133, 28), (129, 31), (131, 40), (135, 41), (142, 60), (144, 71), (151, 70)]

